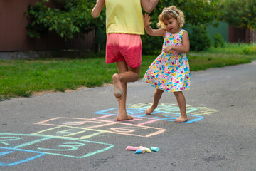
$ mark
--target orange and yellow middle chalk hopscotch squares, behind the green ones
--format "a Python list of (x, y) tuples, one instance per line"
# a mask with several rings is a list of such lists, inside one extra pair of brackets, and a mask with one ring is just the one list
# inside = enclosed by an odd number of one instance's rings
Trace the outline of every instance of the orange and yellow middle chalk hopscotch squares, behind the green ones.
[[(53, 125), (55, 128), (43, 130), (38, 135), (63, 136), (65, 138), (86, 139), (101, 133), (113, 133), (121, 135), (131, 135), (137, 137), (151, 137), (164, 133), (166, 129), (154, 128), (144, 125), (134, 125), (117, 121), (97, 120), (87, 118), (53, 118), (44, 120), (36, 124)], [(88, 134), (90, 133), (90, 134)]]

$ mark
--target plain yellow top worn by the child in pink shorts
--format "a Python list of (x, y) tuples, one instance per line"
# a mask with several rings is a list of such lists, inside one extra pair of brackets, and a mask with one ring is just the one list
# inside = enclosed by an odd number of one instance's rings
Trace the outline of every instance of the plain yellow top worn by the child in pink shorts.
[(105, 0), (108, 33), (144, 34), (141, 0)]

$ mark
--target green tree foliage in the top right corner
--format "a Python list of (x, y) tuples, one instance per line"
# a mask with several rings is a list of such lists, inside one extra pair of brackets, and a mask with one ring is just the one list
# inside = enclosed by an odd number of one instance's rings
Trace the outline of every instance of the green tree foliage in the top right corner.
[(255, 0), (226, 0), (223, 19), (230, 25), (256, 29)]

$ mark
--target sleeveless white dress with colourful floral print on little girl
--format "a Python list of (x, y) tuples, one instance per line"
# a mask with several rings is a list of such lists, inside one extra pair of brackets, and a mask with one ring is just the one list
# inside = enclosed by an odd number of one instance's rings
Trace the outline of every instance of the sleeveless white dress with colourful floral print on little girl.
[(190, 71), (186, 53), (169, 51), (164, 53), (166, 46), (182, 46), (182, 35), (185, 30), (177, 34), (166, 31), (162, 53), (147, 69), (143, 81), (160, 90), (175, 92), (189, 90)]

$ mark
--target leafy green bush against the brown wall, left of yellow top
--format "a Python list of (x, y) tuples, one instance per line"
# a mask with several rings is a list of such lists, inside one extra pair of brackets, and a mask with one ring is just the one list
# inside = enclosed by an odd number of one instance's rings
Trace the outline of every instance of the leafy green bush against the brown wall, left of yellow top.
[(55, 31), (61, 38), (73, 38), (105, 26), (105, 17), (93, 19), (91, 11), (95, 2), (87, 0), (51, 0), (55, 8), (48, 7), (50, 0), (41, 0), (26, 11), (28, 35), (40, 38), (43, 33)]

